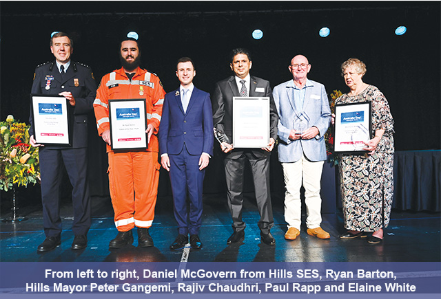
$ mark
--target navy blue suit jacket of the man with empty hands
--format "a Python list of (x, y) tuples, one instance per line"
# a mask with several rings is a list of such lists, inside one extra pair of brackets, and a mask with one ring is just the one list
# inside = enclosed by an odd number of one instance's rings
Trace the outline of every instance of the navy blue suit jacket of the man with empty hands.
[(158, 140), (161, 155), (178, 155), (184, 145), (190, 155), (213, 155), (213, 118), (209, 93), (194, 87), (185, 113), (179, 89), (167, 93)]

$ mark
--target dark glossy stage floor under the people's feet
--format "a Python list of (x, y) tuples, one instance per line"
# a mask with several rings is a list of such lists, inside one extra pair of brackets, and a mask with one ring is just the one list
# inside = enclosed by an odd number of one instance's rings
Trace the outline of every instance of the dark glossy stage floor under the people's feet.
[[(140, 248), (136, 230), (134, 243), (119, 250), (109, 250), (108, 244), (116, 236), (113, 210), (107, 197), (92, 198), (92, 227), (88, 233), (88, 247), (71, 250), (74, 239), (72, 230), (71, 203), (64, 201), (61, 207), (63, 233), (61, 245), (55, 250), (37, 253), (37, 246), (45, 239), (40, 199), (19, 210), (28, 220), (18, 223), (3, 223), (0, 226), (1, 262), (439, 262), (440, 213), (393, 211), (391, 223), (385, 232), (384, 241), (378, 245), (366, 239), (340, 240), (342, 214), (322, 215), (322, 228), (331, 234), (331, 239), (320, 240), (306, 233), (302, 225), (300, 236), (286, 241), (286, 223), (283, 217), (283, 201), (276, 200), (274, 207), (275, 246), (260, 243), (256, 225), (259, 215), (253, 195), (247, 195), (243, 219), (247, 223), (245, 240), (240, 244), (227, 245), (232, 234), (231, 217), (225, 195), (204, 195), (203, 226), (201, 228), (202, 250), (172, 251), (169, 246), (177, 235), (176, 221), (172, 212), (172, 199), (158, 197), (156, 217), (150, 234), (154, 247)], [(37, 202), (36, 202), (37, 201)], [(29, 202), (29, 201), (27, 201)], [(1, 210), (1, 219), (10, 217), (10, 211)], [(304, 218), (304, 217), (303, 217)], [(304, 223), (304, 219), (303, 219)], [(187, 245), (189, 246), (189, 245)]]

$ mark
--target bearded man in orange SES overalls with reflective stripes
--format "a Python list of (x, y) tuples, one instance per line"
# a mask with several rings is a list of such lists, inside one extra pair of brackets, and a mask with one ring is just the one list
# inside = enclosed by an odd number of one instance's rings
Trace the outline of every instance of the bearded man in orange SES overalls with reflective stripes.
[[(132, 228), (138, 228), (138, 245), (153, 246), (148, 228), (154, 219), (158, 193), (158, 133), (165, 91), (156, 74), (141, 69), (141, 50), (137, 39), (121, 42), (121, 69), (103, 76), (96, 91), (94, 112), (98, 133), (107, 143), (109, 155), (110, 197), (118, 234), (110, 248), (133, 243)], [(112, 99), (145, 99), (148, 148), (145, 150), (112, 151), (108, 101)]]

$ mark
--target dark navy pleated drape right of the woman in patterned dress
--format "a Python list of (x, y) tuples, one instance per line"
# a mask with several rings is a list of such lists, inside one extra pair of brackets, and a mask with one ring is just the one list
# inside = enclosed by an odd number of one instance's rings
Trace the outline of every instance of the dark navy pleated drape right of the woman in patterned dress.
[(393, 159), (393, 208), (440, 212), (441, 151), (398, 151)]

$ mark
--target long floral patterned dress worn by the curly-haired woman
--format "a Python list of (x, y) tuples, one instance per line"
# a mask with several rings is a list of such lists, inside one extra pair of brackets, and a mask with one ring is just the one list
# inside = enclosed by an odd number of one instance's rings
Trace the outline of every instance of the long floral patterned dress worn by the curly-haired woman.
[(376, 151), (372, 155), (339, 156), (345, 228), (359, 232), (373, 232), (389, 225), (393, 197), (393, 118), (386, 98), (372, 85), (357, 96), (344, 94), (336, 100), (336, 104), (368, 101), (372, 103), (372, 133), (384, 129)]

